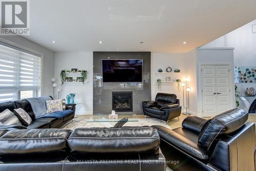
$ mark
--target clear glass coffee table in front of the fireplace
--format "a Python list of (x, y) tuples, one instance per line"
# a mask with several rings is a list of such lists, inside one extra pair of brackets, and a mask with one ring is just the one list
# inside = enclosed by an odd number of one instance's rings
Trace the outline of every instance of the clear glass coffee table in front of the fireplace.
[(87, 122), (136, 122), (139, 121), (136, 114), (122, 115), (118, 114), (118, 118), (111, 119), (109, 115), (93, 115)]

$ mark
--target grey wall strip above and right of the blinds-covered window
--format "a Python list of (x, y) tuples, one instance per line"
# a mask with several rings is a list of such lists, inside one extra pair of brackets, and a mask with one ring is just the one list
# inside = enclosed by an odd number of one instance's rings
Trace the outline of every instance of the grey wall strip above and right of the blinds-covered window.
[(2, 41), (44, 54), (41, 73), (41, 95), (52, 95), (51, 78), (54, 77), (54, 52), (21, 36), (0, 36)]

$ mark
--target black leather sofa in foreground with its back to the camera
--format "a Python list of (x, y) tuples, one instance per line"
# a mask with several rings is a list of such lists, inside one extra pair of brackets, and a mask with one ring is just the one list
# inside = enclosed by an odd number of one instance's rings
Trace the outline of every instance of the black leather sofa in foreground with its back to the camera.
[(164, 171), (156, 129), (0, 130), (0, 170)]

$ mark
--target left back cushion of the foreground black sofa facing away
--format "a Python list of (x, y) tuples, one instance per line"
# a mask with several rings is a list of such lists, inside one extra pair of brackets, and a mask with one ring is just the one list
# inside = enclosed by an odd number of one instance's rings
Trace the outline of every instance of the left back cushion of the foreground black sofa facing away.
[(0, 157), (64, 155), (69, 151), (70, 130), (34, 129), (8, 131), (0, 137)]

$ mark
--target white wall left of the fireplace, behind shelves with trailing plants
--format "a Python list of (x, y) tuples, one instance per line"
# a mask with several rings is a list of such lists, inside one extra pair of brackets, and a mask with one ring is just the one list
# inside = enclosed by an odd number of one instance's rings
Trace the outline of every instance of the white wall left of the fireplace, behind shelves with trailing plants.
[[(87, 70), (87, 83), (60, 83), (60, 71), (71, 70)], [(76, 115), (92, 114), (93, 111), (93, 53), (92, 52), (75, 52), (75, 53), (55, 53), (55, 78), (58, 88), (61, 89), (60, 98), (66, 98), (69, 93), (76, 93), (75, 103)], [(68, 76), (68, 75), (67, 75)], [(72, 74), (69, 74), (72, 76)], [(74, 74), (73, 74), (74, 76)], [(76, 76), (76, 75), (75, 75)], [(74, 77), (75, 77), (74, 76)], [(57, 96), (56, 96), (57, 97)]]

